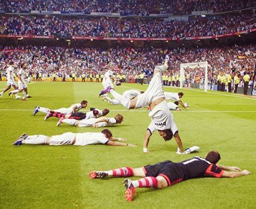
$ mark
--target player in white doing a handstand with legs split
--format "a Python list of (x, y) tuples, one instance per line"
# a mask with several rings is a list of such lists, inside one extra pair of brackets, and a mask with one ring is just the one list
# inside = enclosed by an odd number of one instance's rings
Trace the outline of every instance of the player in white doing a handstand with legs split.
[(173, 120), (173, 116), (167, 106), (165, 94), (162, 87), (161, 72), (167, 70), (169, 56), (166, 55), (164, 65), (156, 66), (153, 78), (149, 83), (147, 90), (143, 94), (139, 94), (133, 100), (129, 100), (123, 95), (115, 92), (111, 87), (103, 90), (104, 93), (111, 93), (127, 109), (134, 109), (149, 106), (152, 122), (147, 128), (144, 139), (143, 151), (148, 152), (147, 146), (149, 138), (155, 130), (165, 141), (169, 141), (173, 136), (179, 148), (179, 154), (183, 154), (183, 146), (179, 136), (178, 128)]

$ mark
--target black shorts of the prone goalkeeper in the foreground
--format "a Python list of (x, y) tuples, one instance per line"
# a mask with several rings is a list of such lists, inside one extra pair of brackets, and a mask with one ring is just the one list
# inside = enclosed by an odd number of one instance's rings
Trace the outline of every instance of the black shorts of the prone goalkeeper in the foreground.
[(168, 186), (183, 180), (183, 175), (179, 166), (171, 161), (164, 161), (155, 165), (143, 167), (146, 176), (162, 176), (168, 182)]

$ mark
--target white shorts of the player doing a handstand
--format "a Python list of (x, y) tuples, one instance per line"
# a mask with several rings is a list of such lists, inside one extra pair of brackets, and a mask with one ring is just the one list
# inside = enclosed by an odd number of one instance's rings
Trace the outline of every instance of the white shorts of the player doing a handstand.
[(147, 90), (137, 96), (135, 108), (146, 107), (157, 99), (165, 98), (164, 89), (162, 88), (161, 73), (158, 72), (151, 79)]

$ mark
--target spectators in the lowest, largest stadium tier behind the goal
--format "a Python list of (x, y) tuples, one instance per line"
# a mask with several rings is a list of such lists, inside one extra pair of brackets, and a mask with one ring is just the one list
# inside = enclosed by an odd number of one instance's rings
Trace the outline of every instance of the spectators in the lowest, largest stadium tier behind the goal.
[[(169, 51), (171, 66), (163, 75), (164, 84), (179, 85), (180, 64), (208, 62), (208, 82), (218, 83), (218, 76), (234, 78), (239, 72), (239, 84), (246, 73), (252, 84), (256, 58), (256, 45), (194, 48), (191, 50), (175, 49)], [(124, 82), (140, 82), (142, 73), (151, 75), (154, 66), (162, 63), (163, 50), (159, 48), (65, 48), (47, 46), (16, 46), (2, 47), (0, 50), (0, 70), (5, 76), (7, 64), (13, 60), (16, 66), (20, 62), (28, 64), (31, 77), (76, 77), (102, 78), (101, 76), (113, 65), (117, 76)], [(204, 68), (185, 69), (185, 86), (204, 82)], [(227, 83), (223, 77), (223, 82)], [(98, 79), (100, 81), (100, 79)], [(250, 85), (250, 84), (249, 84)]]

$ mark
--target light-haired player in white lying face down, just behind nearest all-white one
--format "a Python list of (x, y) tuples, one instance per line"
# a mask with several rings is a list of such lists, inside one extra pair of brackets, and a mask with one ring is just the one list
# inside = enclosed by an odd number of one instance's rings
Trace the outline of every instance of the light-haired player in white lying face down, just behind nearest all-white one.
[(60, 118), (57, 122), (57, 126), (66, 123), (72, 126), (77, 127), (109, 127), (115, 124), (121, 124), (123, 122), (123, 116), (121, 114), (117, 114), (114, 118), (106, 118), (106, 117), (99, 117), (99, 118), (90, 118), (88, 120), (76, 120), (76, 119), (64, 119)]

